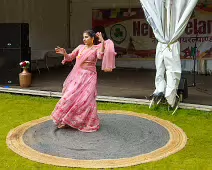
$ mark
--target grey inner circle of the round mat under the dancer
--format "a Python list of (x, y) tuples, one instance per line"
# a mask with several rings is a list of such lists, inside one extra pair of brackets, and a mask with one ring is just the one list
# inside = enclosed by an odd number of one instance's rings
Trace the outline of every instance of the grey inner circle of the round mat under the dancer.
[(49, 120), (30, 128), (23, 139), (41, 153), (80, 160), (133, 157), (161, 148), (170, 139), (163, 126), (147, 119), (115, 114), (99, 117), (97, 132), (57, 129)]

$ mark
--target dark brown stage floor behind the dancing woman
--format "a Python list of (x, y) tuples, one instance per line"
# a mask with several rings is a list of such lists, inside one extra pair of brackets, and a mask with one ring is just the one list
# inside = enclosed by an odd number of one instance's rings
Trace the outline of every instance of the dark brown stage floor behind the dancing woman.
[[(29, 89), (61, 92), (70, 71), (68, 66), (41, 70), (41, 74), (34, 71)], [(192, 85), (193, 74), (183, 73), (182, 77), (187, 78), (188, 85)], [(146, 99), (154, 91), (154, 78), (155, 70), (117, 68), (112, 73), (98, 70), (98, 95)], [(196, 75), (196, 87), (188, 88), (188, 98), (183, 102), (212, 105), (212, 76)]]

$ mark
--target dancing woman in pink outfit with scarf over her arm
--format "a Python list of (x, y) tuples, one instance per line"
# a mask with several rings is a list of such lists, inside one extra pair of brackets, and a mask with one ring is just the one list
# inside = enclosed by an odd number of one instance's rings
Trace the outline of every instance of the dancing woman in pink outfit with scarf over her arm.
[[(101, 42), (94, 45), (95, 37)], [(115, 68), (114, 44), (104, 41), (100, 32), (86, 30), (84, 45), (79, 45), (71, 54), (56, 48), (56, 53), (64, 55), (62, 63), (76, 63), (63, 84), (62, 98), (57, 103), (52, 118), (58, 128), (71, 126), (82, 132), (94, 132), (100, 128), (97, 115), (97, 59), (102, 59), (102, 70), (111, 72)]]

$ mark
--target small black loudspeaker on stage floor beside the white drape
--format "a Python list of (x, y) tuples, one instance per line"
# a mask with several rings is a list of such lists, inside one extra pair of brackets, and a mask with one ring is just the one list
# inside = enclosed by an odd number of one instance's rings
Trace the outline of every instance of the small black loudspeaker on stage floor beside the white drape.
[(186, 78), (180, 79), (177, 94), (180, 96), (181, 101), (183, 101), (183, 99), (188, 98), (188, 85), (187, 85), (187, 79)]

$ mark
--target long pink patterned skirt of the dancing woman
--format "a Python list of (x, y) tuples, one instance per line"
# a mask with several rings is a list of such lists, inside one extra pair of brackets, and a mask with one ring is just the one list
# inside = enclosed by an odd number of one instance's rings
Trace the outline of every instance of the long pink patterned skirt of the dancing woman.
[(97, 73), (80, 68), (67, 77), (66, 84), (63, 96), (52, 112), (53, 121), (82, 132), (97, 131), (100, 128), (96, 104)]

